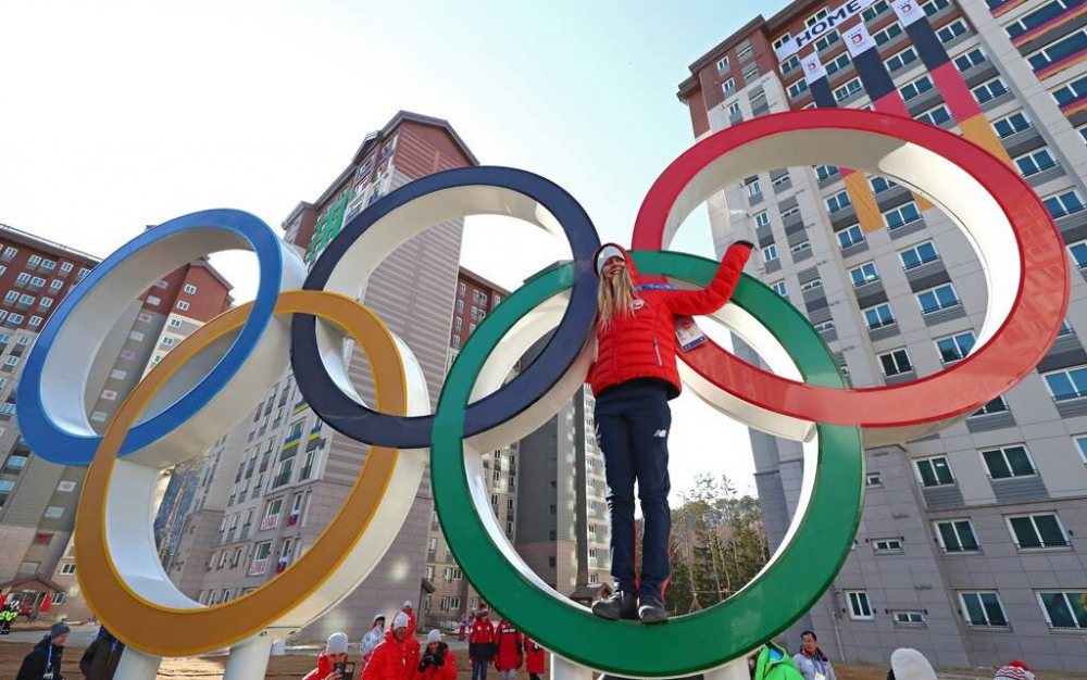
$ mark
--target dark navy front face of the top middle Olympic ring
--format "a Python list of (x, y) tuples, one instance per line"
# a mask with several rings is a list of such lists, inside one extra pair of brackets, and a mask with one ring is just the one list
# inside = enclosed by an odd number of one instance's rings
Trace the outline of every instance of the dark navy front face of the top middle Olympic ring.
[[(463, 167), (416, 179), (355, 216), (333, 239), (310, 269), (302, 286), (323, 290), (333, 269), (359, 237), (377, 221), (411, 201), (446, 189), (500, 187), (522, 193), (541, 205), (562, 226), (574, 255), (574, 285), (562, 322), (544, 351), (527, 368), (498, 391), (468, 404), (464, 436), (471, 437), (505, 423), (546, 394), (573, 365), (594, 331), (597, 315), (597, 279), (592, 253), (600, 238), (588, 214), (554, 182), (511, 167)], [(291, 320), (291, 368), (298, 388), (313, 411), (335, 430), (361, 442), (400, 449), (430, 445), (434, 416), (392, 416), (358, 404), (333, 381), (317, 351), (316, 319), (296, 314)]]

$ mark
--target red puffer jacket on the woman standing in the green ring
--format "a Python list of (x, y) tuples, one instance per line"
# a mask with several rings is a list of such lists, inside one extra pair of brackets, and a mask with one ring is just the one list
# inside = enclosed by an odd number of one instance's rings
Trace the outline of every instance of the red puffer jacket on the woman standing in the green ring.
[[(614, 245), (614, 243), (605, 243)], [(634, 285), (638, 272), (630, 254), (616, 245), (626, 257), (626, 267)], [(599, 252), (599, 250), (597, 251)], [(676, 368), (677, 316), (711, 314), (728, 302), (748, 257), (751, 244), (733, 243), (721, 261), (717, 274), (701, 290), (670, 290), (647, 287), (637, 292), (634, 314), (616, 316), (603, 328), (597, 326), (597, 361), (589, 372), (588, 382), (594, 394), (635, 378), (658, 378), (672, 386), (670, 399), (679, 395), (679, 372)], [(596, 255), (592, 256), (596, 262)]]

